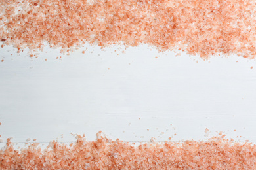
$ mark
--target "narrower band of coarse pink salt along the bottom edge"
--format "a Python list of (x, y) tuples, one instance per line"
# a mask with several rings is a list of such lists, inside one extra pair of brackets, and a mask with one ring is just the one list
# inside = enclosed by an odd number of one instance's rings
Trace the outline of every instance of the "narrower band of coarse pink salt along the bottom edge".
[(221, 137), (184, 143), (145, 143), (135, 146), (99, 136), (74, 144), (53, 141), (15, 150), (10, 139), (0, 152), (0, 169), (256, 169), (256, 146)]

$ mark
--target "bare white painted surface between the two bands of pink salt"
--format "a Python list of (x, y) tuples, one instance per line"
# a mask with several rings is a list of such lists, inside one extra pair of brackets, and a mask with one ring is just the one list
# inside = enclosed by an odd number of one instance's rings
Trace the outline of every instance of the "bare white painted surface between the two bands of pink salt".
[(228, 138), (256, 141), (254, 60), (213, 57), (209, 63), (146, 46), (124, 54), (87, 47), (70, 56), (47, 49), (33, 59), (0, 49), (1, 139), (71, 142), (70, 133), (85, 133), (93, 141), (101, 130), (123, 141), (198, 140), (208, 128), (210, 136), (225, 131)]

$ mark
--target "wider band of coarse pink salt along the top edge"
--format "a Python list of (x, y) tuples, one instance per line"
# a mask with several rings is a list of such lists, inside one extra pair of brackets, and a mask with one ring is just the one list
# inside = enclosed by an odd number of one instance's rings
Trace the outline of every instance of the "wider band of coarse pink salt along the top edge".
[(255, 58), (255, 9), (253, 0), (0, 1), (0, 39), (19, 50), (89, 42)]

